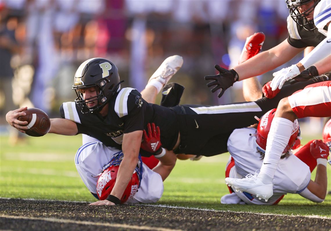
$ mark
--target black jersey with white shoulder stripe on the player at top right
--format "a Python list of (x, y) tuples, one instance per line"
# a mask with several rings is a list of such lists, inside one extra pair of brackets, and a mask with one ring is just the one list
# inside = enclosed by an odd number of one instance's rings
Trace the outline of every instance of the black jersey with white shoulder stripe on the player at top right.
[(303, 26), (299, 26), (291, 16), (287, 18), (287, 30), (289, 33), (287, 41), (295, 48), (316, 47), (326, 38), (317, 28), (306, 30)]

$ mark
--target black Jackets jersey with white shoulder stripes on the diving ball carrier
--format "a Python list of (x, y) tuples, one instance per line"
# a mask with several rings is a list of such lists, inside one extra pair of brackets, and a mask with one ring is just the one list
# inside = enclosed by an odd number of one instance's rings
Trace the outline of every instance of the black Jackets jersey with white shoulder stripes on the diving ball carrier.
[(123, 88), (111, 98), (104, 118), (98, 113), (82, 113), (74, 102), (63, 103), (60, 114), (76, 123), (78, 134), (94, 137), (109, 147), (120, 149), (124, 133), (147, 131), (147, 124), (152, 122), (160, 127), (163, 147), (171, 150), (178, 138), (174, 111), (147, 103), (133, 88)]

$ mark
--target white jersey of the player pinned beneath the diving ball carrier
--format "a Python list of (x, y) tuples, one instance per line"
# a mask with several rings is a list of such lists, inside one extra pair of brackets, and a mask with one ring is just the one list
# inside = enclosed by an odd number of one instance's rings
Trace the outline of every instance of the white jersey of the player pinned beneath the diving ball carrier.
[[(93, 141), (93, 142), (87, 142)], [(118, 149), (107, 147), (92, 137), (83, 137), (83, 145), (78, 149), (75, 156), (76, 169), (88, 190), (97, 194), (97, 176)], [(158, 173), (150, 170), (143, 164), (143, 173), (140, 188), (132, 199), (125, 204), (155, 203), (163, 194), (163, 181)]]

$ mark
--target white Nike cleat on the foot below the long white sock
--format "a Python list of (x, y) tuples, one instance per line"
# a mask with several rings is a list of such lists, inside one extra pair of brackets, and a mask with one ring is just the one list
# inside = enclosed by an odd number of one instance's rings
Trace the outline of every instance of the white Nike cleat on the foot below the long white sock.
[(237, 192), (248, 192), (267, 202), (273, 195), (273, 184), (264, 184), (257, 175), (258, 173), (250, 173), (243, 179), (226, 177), (225, 182)]

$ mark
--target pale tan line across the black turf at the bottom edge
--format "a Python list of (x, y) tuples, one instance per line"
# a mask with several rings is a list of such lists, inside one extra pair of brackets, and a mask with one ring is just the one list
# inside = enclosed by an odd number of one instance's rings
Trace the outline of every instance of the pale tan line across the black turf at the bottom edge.
[(30, 217), (30, 216), (9, 216), (9, 215), (0, 215), (0, 217), (8, 218), (8, 219), (42, 220), (42, 221), (49, 221), (49, 222), (70, 223), (70, 224), (79, 224), (79, 225), (96, 225), (96, 226), (106, 226), (106, 227), (123, 228), (123, 229), (182, 231), (180, 229), (168, 229), (168, 228), (151, 227), (151, 226), (116, 224), (116, 223), (108, 223), (108, 222), (101, 223), (101, 222), (92, 222), (92, 221), (77, 221), (77, 220), (70, 220), (70, 219), (58, 219), (58, 218), (54, 218), (54, 217)]

